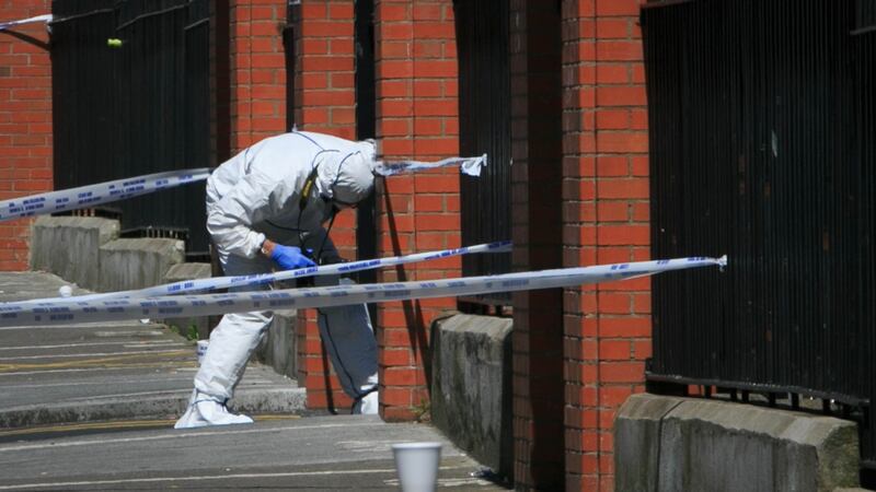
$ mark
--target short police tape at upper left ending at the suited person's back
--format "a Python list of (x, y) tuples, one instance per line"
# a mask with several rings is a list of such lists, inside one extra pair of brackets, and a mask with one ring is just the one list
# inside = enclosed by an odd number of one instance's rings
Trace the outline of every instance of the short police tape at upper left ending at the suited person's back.
[(187, 183), (203, 181), (209, 175), (210, 169), (207, 167), (170, 171), (2, 200), (0, 221), (96, 207)]

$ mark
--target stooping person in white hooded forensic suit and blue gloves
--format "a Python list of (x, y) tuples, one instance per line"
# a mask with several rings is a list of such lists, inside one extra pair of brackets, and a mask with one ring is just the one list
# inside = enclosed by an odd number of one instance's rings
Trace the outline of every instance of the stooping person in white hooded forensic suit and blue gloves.
[[(262, 140), (220, 165), (207, 179), (207, 230), (224, 274), (311, 267), (311, 256), (339, 260), (323, 224), (328, 221), (331, 229), (338, 210), (372, 192), (374, 159), (372, 141), (292, 131)], [(270, 312), (222, 317), (176, 429), (253, 421), (226, 403), (272, 319)], [(355, 401), (353, 412), (377, 413), (377, 341), (366, 306), (322, 308), (319, 325), (341, 385)]]

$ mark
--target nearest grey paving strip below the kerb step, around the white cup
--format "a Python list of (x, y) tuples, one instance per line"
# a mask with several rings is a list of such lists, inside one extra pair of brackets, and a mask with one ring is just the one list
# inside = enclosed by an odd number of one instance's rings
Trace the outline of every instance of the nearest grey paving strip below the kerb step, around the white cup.
[(397, 490), (390, 446), (412, 441), (442, 443), (439, 490), (504, 490), (473, 477), (477, 462), (433, 427), (376, 415), (187, 431), (106, 427), (77, 435), (58, 429), (22, 437), (0, 431), (0, 491)]

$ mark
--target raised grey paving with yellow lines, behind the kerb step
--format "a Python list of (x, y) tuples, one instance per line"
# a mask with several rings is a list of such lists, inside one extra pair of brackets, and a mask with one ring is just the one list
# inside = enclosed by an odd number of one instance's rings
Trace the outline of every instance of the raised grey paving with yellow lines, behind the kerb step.
[[(43, 272), (0, 273), (0, 302), (57, 296), (66, 283)], [(1, 328), (0, 427), (175, 418), (196, 370), (195, 342), (159, 324)], [(302, 414), (304, 391), (253, 362), (230, 406)]]

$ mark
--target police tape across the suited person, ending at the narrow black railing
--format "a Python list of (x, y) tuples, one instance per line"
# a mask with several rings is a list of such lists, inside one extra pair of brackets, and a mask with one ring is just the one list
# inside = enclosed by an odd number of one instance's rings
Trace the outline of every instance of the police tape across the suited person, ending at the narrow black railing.
[(479, 253), (508, 253), (510, 250), (511, 250), (511, 242), (502, 241), (497, 243), (479, 244), (461, 248), (441, 249), (438, 251), (415, 253), (413, 255), (393, 256), (389, 258), (349, 261), (346, 263), (326, 265), (322, 267), (299, 268), (297, 270), (278, 271), (275, 273), (258, 273), (251, 276), (216, 277), (210, 279), (183, 280), (180, 282), (155, 285), (136, 291), (106, 292), (102, 294), (79, 295), (76, 297), (36, 298), (30, 301), (19, 301), (14, 303), (0, 303), (0, 306), (12, 306), (20, 304), (51, 305), (51, 303), (58, 301), (70, 301), (70, 302), (105, 301), (110, 298), (120, 300), (120, 298), (155, 297), (161, 295), (177, 295), (186, 293), (191, 294), (195, 292), (212, 291), (217, 289), (232, 289), (232, 288), (261, 285), (283, 280), (302, 279), (306, 277), (338, 276), (338, 274), (343, 276), (345, 273), (353, 273), (362, 270), (374, 270), (378, 268), (395, 267), (399, 265), (436, 260), (436, 259), (449, 258), (461, 255), (473, 255)]

